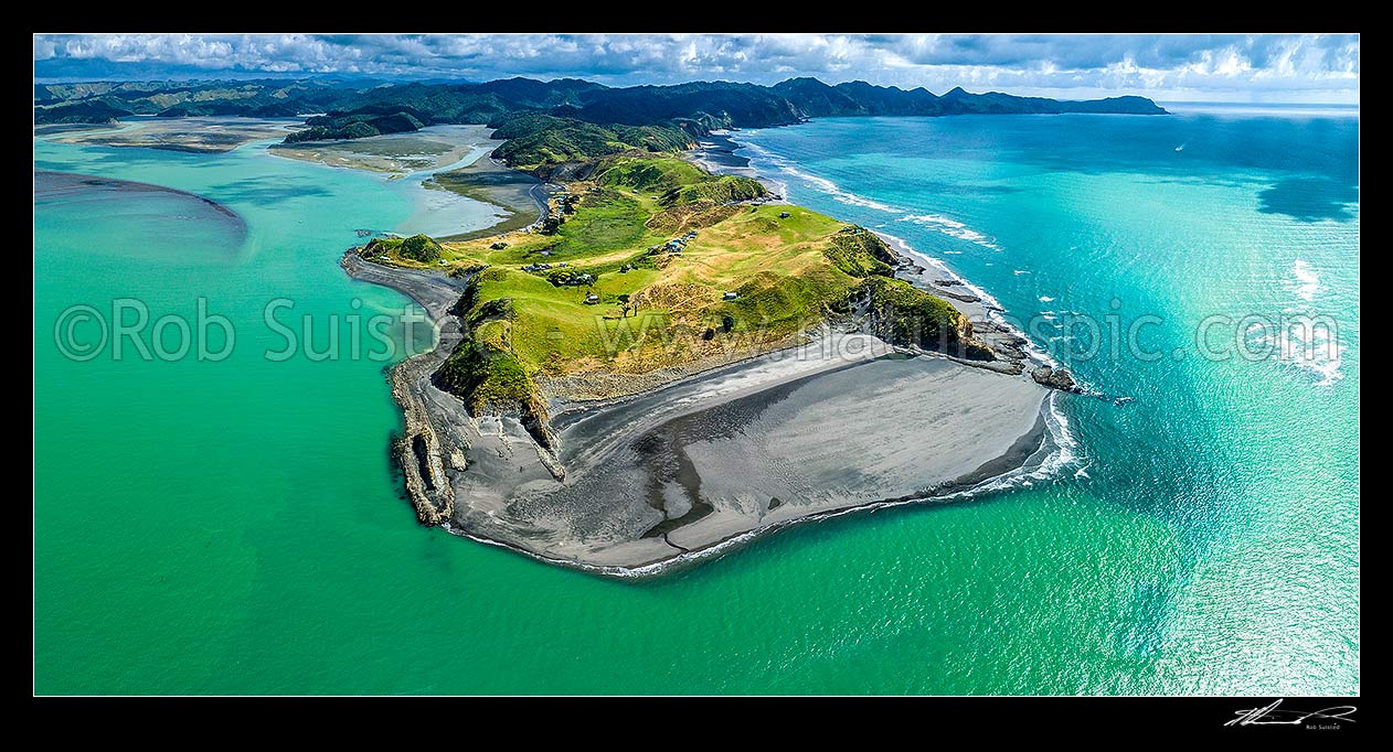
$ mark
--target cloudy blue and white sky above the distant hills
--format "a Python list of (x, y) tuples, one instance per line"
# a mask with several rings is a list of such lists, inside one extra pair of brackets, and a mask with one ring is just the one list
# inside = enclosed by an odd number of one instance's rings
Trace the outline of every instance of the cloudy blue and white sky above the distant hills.
[(613, 86), (811, 75), (943, 93), (1358, 103), (1358, 35), (49, 35), (36, 81), (585, 78)]

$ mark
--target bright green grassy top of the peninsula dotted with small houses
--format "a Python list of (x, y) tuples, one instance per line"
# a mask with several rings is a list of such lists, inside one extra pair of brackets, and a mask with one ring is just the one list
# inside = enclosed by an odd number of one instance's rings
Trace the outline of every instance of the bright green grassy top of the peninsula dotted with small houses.
[[(554, 234), (446, 242), (444, 265), (389, 255), (403, 266), (483, 267), (464, 312), (471, 337), (446, 380), (472, 409), (507, 407), (539, 373), (646, 373), (733, 343), (766, 351), (823, 322), (868, 277), (892, 281), (871, 233), (800, 206), (710, 198), (762, 194), (751, 184), (678, 159), (609, 157), (567, 185), (574, 209)], [(532, 269), (542, 263), (550, 269)], [(582, 274), (585, 284), (557, 284)]]

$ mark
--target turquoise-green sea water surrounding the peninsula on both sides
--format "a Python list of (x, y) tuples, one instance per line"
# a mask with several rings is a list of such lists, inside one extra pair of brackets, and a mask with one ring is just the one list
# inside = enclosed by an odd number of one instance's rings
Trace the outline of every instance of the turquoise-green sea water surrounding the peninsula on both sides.
[[(794, 201), (943, 259), (1021, 323), (1153, 313), (1139, 341), (1166, 357), (1071, 362), (1133, 401), (1064, 402), (1075, 458), (1053, 482), (606, 581), (418, 526), (387, 462), (382, 362), (263, 357), (284, 344), (262, 320), (273, 298), (322, 336), (332, 315), (400, 309), (336, 260), (355, 228), (408, 221), (408, 192), (255, 145), (36, 141), (39, 169), (206, 196), (247, 234), (167, 227), (167, 194), (35, 207), (35, 689), (1358, 691), (1357, 117), (737, 136)], [(235, 326), (224, 361), (74, 362), (54, 343), (75, 304), (192, 316), (199, 297)], [(1337, 322), (1337, 358), (1195, 352), (1205, 316), (1300, 312)], [(1074, 341), (1050, 320), (1038, 344)]]

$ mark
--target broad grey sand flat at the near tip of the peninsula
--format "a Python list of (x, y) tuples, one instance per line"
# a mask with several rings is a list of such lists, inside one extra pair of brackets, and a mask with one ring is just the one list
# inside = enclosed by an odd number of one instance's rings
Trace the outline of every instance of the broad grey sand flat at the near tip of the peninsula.
[(521, 485), (507, 508), (534, 528), (571, 533), (567, 546), (543, 547), (547, 556), (630, 568), (673, 560), (1015, 469), (1042, 447), (1045, 395), (1021, 379), (896, 357), (875, 337), (829, 331), (635, 400), (561, 414), (566, 480)]

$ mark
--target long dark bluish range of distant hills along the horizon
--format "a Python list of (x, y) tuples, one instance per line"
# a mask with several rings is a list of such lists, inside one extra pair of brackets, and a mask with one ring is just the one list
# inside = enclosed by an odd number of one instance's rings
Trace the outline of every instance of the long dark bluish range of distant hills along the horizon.
[[(35, 121), (106, 123), (124, 114), (288, 117), (325, 114), (319, 125), (347, 132), (350, 116), (391, 116), (410, 123), (486, 124), (518, 111), (546, 113), (605, 125), (669, 125), (688, 130), (765, 127), (832, 116), (951, 116), (1021, 113), (1165, 114), (1149, 99), (1120, 96), (1091, 102), (875, 86), (862, 81), (829, 86), (793, 78), (773, 86), (708, 82), (610, 88), (561, 78), (508, 78), (486, 84), (393, 84), (368, 86), (323, 81), (182, 81), (38, 84)], [(86, 120), (84, 120), (86, 118)], [(365, 128), (357, 128), (364, 132)], [(379, 128), (380, 131), (380, 128)], [(351, 135), (348, 138), (352, 138)]]

